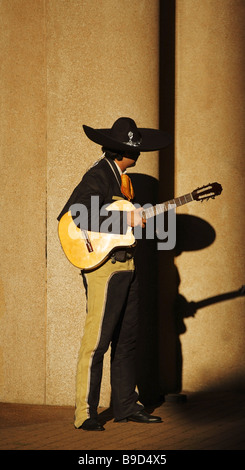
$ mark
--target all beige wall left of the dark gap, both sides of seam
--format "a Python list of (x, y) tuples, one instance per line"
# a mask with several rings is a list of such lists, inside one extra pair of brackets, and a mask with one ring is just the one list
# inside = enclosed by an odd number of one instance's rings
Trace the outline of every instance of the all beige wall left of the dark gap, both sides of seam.
[[(85, 295), (60, 247), (57, 216), (101, 155), (82, 124), (111, 127), (131, 116), (158, 127), (158, 7), (158, 0), (0, 2), (2, 401), (74, 404)], [(136, 171), (157, 177), (157, 154), (142, 156)], [(109, 392), (107, 358), (102, 404)]]

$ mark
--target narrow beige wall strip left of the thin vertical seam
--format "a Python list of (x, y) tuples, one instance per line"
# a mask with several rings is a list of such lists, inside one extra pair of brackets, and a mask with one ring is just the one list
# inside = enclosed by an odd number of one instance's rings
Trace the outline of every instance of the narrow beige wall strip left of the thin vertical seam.
[(44, 3), (0, 2), (0, 400), (43, 403), (46, 323)]

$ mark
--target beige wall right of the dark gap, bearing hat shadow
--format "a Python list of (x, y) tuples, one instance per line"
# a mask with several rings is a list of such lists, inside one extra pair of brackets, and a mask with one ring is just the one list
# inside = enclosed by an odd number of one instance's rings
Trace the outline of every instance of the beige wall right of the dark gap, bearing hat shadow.
[[(223, 186), (179, 211), (216, 232), (207, 248), (176, 258), (179, 293), (197, 302), (245, 284), (245, 2), (178, 0), (176, 14), (176, 194)], [(244, 297), (201, 308), (185, 325), (183, 387), (244, 388)]]

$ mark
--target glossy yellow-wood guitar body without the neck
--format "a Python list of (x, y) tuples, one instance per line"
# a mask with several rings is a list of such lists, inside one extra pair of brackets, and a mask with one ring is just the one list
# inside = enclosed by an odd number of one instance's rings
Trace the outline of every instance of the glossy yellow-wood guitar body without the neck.
[[(133, 211), (134, 209), (133, 204), (124, 199), (115, 201), (107, 207), (108, 211)], [(60, 219), (58, 234), (68, 260), (84, 271), (99, 267), (116, 248), (125, 248), (135, 244), (132, 227), (128, 226), (125, 235), (80, 230), (74, 223), (70, 211)]]

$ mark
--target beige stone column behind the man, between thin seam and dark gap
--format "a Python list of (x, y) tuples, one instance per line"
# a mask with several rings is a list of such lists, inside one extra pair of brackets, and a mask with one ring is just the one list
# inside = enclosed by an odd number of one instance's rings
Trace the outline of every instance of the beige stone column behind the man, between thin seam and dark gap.
[[(82, 125), (111, 127), (120, 116), (158, 127), (158, 0), (47, 2), (47, 403), (73, 404), (86, 315), (79, 271), (65, 258), (56, 217), (101, 156)], [(140, 173), (158, 177), (158, 155)], [(109, 404), (109, 359), (101, 404)]]

